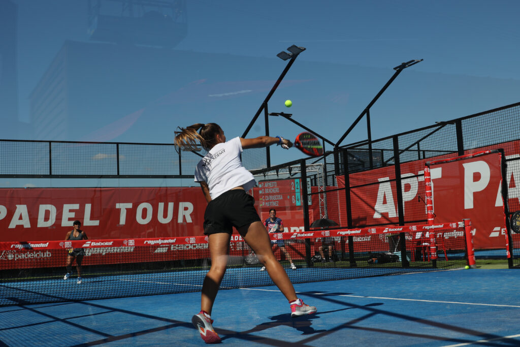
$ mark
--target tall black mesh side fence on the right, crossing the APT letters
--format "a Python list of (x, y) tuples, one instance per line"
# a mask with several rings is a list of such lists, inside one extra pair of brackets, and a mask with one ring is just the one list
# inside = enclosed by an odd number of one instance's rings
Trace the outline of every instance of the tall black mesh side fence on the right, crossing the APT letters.
[[(334, 169), (339, 184), (326, 195), (328, 214), (339, 224), (334, 227), (426, 223), (425, 161), (456, 157), (476, 149), (503, 149), (509, 197), (506, 208), (507, 216), (511, 216), (520, 210), (520, 186), (516, 183), (520, 182), (518, 128), (520, 104), (515, 104), (337, 149)], [(368, 201), (373, 196), (377, 196), (375, 208)], [(513, 240), (513, 247), (513, 262), (518, 262), (518, 241)], [(506, 254), (505, 242), (501, 249), (476, 252), (477, 258), (505, 258)]]

